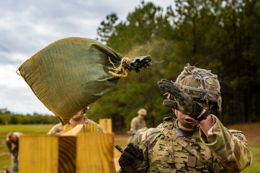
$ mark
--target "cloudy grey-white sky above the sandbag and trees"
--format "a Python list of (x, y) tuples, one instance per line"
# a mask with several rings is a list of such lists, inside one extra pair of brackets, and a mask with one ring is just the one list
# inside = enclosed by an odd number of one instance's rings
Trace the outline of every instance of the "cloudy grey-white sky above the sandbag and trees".
[[(164, 11), (174, 0), (150, 0)], [(0, 1), (0, 109), (16, 114), (54, 115), (38, 100), (16, 70), (56, 40), (95, 39), (97, 27), (115, 12), (126, 21), (141, 0), (8, 0)]]

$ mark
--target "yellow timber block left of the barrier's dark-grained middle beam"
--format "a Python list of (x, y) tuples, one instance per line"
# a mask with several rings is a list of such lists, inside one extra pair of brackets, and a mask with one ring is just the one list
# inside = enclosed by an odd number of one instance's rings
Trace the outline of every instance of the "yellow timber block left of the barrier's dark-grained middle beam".
[(58, 173), (59, 136), (21, 136), (19, 139), (19, 158), (19, 173)]

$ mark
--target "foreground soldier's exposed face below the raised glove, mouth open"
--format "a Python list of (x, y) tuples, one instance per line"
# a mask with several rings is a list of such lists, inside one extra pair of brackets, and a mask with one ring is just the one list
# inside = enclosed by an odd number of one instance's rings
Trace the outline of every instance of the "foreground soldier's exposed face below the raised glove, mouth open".
[[(202, 104), (203, 107), (209, 109), (209, 105), (207, 105), (207, 103), (200, 102), (200, 104)], [(174, 111), (175, 111), (175, 114), (178, 117), (179, 121), (181, 121), (182, 123), (190, 125), (190, 126), (198, 125), (198, 123), (196, 123), (196, 121), (192, 117), (190, 117), (189, 115), (184, 115), (183, 113), (179, 112), (176, 109)], [(192, 131), (193, 130), (193, 129), (182, 127), (180, 123), (178, 123), (178, 126), (179, 126), (179, 128), (182, 128), (185, 131)]]

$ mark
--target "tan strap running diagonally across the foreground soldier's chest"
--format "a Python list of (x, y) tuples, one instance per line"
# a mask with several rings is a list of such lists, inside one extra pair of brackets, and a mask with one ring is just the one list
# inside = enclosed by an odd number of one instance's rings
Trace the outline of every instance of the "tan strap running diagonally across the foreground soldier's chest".
[(171, 131), (167, 130), (166, 128), (163, 128), (163, 129), (155, 128), (155, 129), (158, 130), (159, 132), (161, 132), (162, 135), (167, 136), (172, 141), (177, 142), (178, 144), (183, 146), (186, 150), (191, 152), (207, 168), (207, 170), (209, 170), (207, 167), (208, 162), (205, 160), (205, 158), (196, 149), (194, 149), (192, 146), (190, 146), (187, 142), (185, 142), (184, 140), (182, 140), (180, 137), (176, 136), (175, 134), (171, 133)]

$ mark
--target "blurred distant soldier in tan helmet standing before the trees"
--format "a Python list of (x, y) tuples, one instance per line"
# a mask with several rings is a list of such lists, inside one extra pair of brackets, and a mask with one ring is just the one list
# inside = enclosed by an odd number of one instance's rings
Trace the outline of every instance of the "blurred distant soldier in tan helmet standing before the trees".
[(127, 145), (133, 141), (133, 136), (137, 133), (137, 132), (144, 132), (145, 130), (147, 130), (148, 128), (146, 127), (146, 122), (144, 120), (144, 118), (147, 115), (147, 111), (144, 108), (141, 108), (138, 110), (137, 112), (137, 116), (134, 117), (131, 120), (130, 123), (130, 131), (128, 131), (127, 133), (131, 134), (131, 136), (128, 138), (127, 140)]

